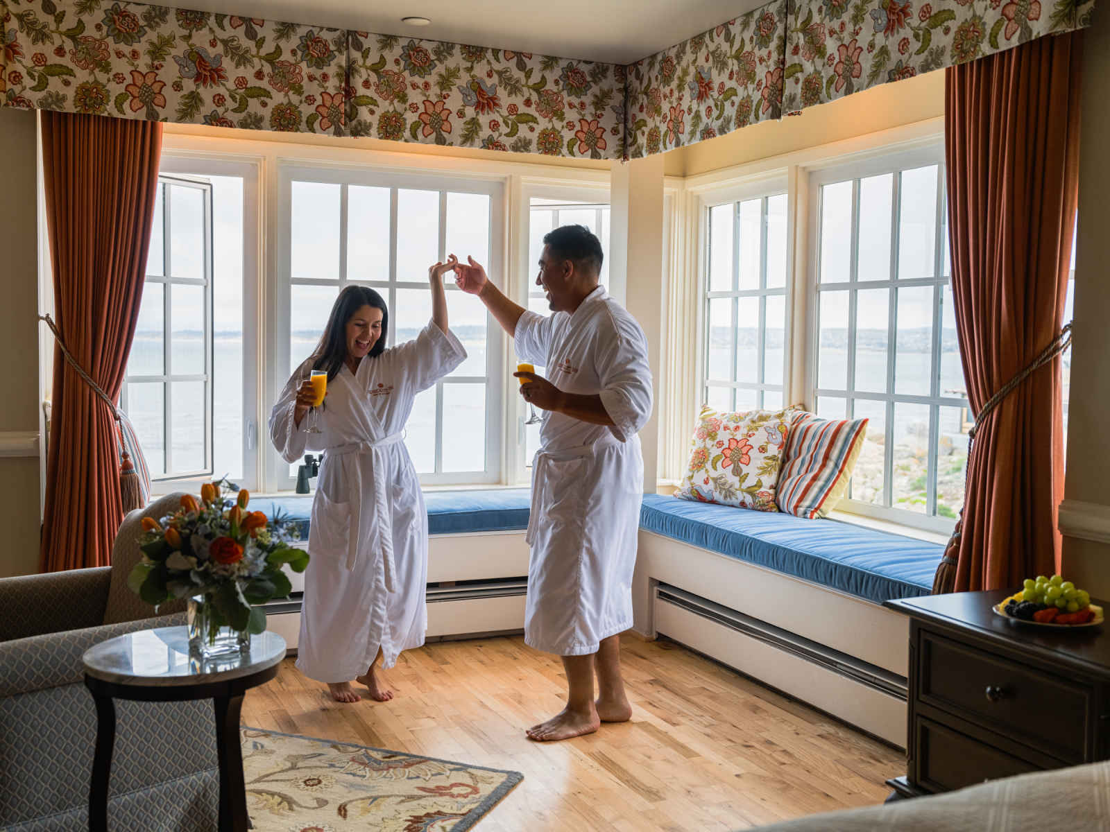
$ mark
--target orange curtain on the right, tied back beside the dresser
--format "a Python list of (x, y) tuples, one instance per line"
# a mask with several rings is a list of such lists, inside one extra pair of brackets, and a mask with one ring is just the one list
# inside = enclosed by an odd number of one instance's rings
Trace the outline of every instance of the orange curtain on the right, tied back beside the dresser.
[[(975, 412), (1063, 325), (1079, 194), (1082, 33), (1040, 38), (946, 78), (956, 323)], [(1018, 586), (1060, 562), (1060, 358), (979, 426), (955, 590)]]

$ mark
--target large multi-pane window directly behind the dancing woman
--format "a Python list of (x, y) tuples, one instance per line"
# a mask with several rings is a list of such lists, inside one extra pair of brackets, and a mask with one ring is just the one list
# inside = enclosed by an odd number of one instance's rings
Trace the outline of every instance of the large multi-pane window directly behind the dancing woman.
[[(447, 184), (447, 187), (444, 185)], [(281, 174), (287, 348), (282, 382), (315, 348), (335, 297), (371, 286), (390, 310), (389, 345), (415, 338), (432, 315), (427, 268), (448, 253), (501, 271), (501, 184), (444, 176), (285, 168)], [(491, 262), (493, 261), (493, 262)], [(467, 358), (418, 394), (405, 444), (421, 480), (501, 477), (501, 338), (485, 307), (445, 278), (451, 328)], [(496, 375), (495, 375), (496, 374)], [(496, 381), (494, 381), (496, 379)], [(296, 466), (279, 487), (290, 488)]]

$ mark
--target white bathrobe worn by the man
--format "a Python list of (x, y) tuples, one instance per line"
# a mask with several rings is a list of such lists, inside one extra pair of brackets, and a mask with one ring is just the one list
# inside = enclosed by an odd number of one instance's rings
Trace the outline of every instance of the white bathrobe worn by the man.
[(644, 331), (598, 286), (573, 315), (525, 312), (516, 352), (566, 393), (601, 395), (613, 427), (545, 412), (532, 469), (524, 640), (559, 656), (597, 652), (632, 627), (644, 459), (652, 413)]

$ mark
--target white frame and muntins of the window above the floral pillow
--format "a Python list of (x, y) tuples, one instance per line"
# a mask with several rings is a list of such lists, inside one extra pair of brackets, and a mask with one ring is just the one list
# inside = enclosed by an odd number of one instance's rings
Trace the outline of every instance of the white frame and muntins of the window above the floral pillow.
[[(766, 200), (770, 196), (786, 195), (786, 275), (785, 285), (781, 287), (766, 288), (767, 282), (767, 203)], [(712, 237), (710, 227), (710, 210), (718, 207), (720, 205), (733, 205), (733, 286), (738, 286), (738, 270), (739, 270), (739, 232), (738, 223), (739, 215), (737, 206), (741, 202), (747, 202), (749, 200), (760, 199), (763, 203), (763, 214), (760, 219), (760, 283), (761, 287), (756, 290), (739, 290), (733, 288), (725, 292), (710, 292), (709, 291), (709, 244)], [(751, 181), (745, 182), (738, 185), (729, 185), (720, 189), (715, 189), (712, 191), (703, 192), (698, 196), (697, 207), (698, 207), (698, 229), (697, 229), (697, 297), (698, 297), (698, 351), (697, 351), (697, 385), (696, 389), (702, 396), (703, 404), (708, 400), (708, 388), (713, 387), (725, 387), (730, 389), (729, 394), (730, 402), (736, 402), (736, 390), (737, 389), (751, 389), (756, 390), (758, 406), (763, 407), (763, 393), (768, 388), (774, 392), (781, 393), (783, 396), (783, 407), (788, 407), (790, 405), (790, 388), (791, 388), (791, 373), (793, 373), (793, 348), (794, 348), (794, 305), (795, 305), (795, 291), (794, 291), (794, 245), (791, 241), (794, 239), (794, 204), (797, 200), (797, 195), (793, 192), (789, 186), (789, 177), (784, 172), (778, 172), (770, 176), (760, 176)], [(765, 352), (765, 329), (766, 329), (766, 297), (783, 297), (786, 307), (786, 317), (784, 321), (784, 338), (783, 338), (783, 378), (779, 384), (768, 383), (764, 378), (764, 352)], [(738, 324), (738, 298), (743, 297), (755, 297), (760, 298), (759, 303), (759, 382), (736, 382), (723, 379), (714, 379), (716, 384), (709, 385), (708, 379), (708, 362), (709, 362), (709, 301), (723, 297), (737, 298), (733, 304), (733, 323), (731, 328), (735, 329)], [(733, 337), (731, 345), (731, 356), (730, 356), (730, 375), (733, 378), (736, 377), (736, 337)], [(696, 410), (696, 408), (694, 408)], [(693, 415), (693, 414), (692, 414)]]

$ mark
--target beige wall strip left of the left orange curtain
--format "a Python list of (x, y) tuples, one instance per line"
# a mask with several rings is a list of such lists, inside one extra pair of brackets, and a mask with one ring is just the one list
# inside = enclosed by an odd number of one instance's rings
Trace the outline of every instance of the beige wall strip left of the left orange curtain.
[[(0, 445), (18, 444), (39, 429), (38, 207), (36, 116), (0, 108), (0, 304), (4, 395), (0, 396)], [(39, 566), (39, 457), (0, 457), (0, 577), (37, 572)]]

